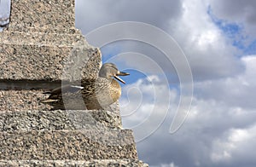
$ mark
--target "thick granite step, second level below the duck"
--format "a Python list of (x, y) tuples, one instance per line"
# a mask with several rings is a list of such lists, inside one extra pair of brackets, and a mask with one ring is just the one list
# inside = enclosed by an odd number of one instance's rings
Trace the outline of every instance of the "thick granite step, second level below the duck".
[(131, 130), (0, 132), (1, 160), (137, 159)]

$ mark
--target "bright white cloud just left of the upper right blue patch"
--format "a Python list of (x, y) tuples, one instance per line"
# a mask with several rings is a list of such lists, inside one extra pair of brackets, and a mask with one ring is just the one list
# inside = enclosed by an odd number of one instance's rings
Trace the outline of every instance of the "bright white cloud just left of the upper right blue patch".
[(212, 22), (204, 1), (183, 0), (182, 17), (170, 22), (170, 32), (189, 57), (195, 78), (221, 78), (241, 72), (241, 62), (234, 56), (237, 50)]

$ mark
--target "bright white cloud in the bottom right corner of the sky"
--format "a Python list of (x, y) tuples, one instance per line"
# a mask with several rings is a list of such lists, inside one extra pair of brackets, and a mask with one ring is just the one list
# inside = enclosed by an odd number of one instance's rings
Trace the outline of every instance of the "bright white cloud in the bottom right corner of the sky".
[(256, 163), (256, 124), (246, 129), (230, 129), (227, 135), (212, 142), (212, 162), (215, 164), (248, 164)]

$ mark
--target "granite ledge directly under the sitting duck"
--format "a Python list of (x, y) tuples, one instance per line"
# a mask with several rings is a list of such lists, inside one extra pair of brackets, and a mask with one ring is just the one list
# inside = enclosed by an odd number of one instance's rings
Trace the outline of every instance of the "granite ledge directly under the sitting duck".
[(0, 132), (29, 130), (113, 130), (121, 118), (104, 110), (0, 112)]

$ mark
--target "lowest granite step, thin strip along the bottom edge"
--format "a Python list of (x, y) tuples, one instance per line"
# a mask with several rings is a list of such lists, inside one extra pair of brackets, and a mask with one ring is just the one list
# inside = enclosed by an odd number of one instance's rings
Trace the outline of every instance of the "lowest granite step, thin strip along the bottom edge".
[(0, 160), (0, 166), (49, 166), (49, 167), (82, 167), (82, 166), (98, 166), (98, 167), (148, 167), (137, 159), (101, 159), (91, 161), (74, 161), (74, 160)]

